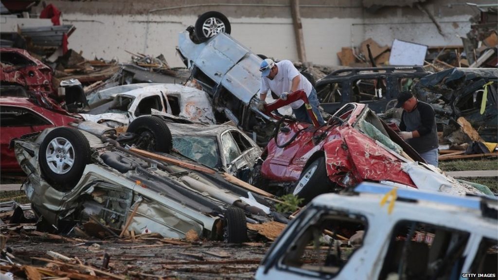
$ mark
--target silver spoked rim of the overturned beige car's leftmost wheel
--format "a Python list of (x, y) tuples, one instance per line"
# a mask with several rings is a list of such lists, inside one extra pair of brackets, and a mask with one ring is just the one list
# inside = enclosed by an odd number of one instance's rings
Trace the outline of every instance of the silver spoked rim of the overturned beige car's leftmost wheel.
[(73, 167), (74, 158), (74, 147), (69, 140), (57, 137), (48, 143), (45, 159), (52, 172), (66, 174)]

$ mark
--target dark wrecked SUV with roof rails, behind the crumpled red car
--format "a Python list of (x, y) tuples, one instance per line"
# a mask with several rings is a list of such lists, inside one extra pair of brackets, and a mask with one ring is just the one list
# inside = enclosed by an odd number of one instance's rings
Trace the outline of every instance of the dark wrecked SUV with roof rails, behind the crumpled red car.
[(429, 75), (421, 66), (346, 68), (316, 81), (320, 105), (329, 114), (350, 102), (368, 104), (375, 113), (394, 107), (398, 93)]

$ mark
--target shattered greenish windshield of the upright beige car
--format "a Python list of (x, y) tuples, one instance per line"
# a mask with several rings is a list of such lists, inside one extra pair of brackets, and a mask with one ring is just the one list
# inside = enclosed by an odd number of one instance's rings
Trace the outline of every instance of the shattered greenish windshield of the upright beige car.
[(216, 137), (174, 137), (173, 148), (209, 167), (218, 166), (220, 156)]

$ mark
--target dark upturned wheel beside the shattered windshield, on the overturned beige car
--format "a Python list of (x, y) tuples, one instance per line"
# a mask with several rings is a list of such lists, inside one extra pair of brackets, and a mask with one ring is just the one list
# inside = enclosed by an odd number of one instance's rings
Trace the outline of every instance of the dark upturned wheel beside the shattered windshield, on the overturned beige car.
[(138, 135), (135, 146), (140, 149), (167, 152), (173, 148), (171, 132), (166, 123), (157, 116), (136, 118), (126, 132)]

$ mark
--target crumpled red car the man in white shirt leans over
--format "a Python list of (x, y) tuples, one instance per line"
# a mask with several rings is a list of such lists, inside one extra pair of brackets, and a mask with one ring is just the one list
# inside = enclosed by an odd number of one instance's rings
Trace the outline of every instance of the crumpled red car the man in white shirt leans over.
[[(266, 112), (298, 99), (307, 103), (305, 94), (297, 91), (286, 101), (266, 105)], [(425, 161), (367, 105), (348, 103), (321, 127), (313, 115), (312, 119), (315, 125), (289, 117), (279, 120), (274, 139), (261, 155), (262, 178), (253, 177), (254, 185), (277, 186), (277, 194), (282, 187), (289, 187), (304, 198), (303, 203), (362, 181), (390, 181), (416, 188), (401, 164), (407, 158)]]

